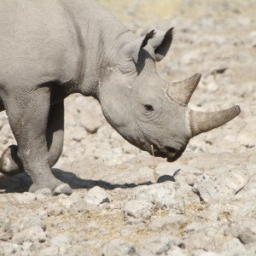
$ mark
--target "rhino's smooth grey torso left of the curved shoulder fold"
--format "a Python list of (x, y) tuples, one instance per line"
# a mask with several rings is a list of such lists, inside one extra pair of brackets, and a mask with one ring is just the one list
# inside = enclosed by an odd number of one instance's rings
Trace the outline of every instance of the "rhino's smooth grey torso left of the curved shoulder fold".
[(0, 2), (0, 84), (34, 85), (75, 76), (79, 44), (58, 1)]

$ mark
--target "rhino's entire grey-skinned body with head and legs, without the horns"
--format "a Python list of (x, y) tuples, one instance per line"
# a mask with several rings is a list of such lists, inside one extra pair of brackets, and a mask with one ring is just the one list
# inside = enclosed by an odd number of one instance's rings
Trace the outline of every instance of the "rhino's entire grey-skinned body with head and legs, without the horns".
[(127, 141), (169, 161), (199, 134), (187, 102), (172, 100), (156, 72), (172, 30), (137, 38), (92, 0), (1, 0), (0, 35), (0, 109), (18, 145), (3, 153), (0, 178), (25, 171), (32, 192), (72, 193), (50, 170), (61, 155), (63, 101), (72, 93), (94, 96)]

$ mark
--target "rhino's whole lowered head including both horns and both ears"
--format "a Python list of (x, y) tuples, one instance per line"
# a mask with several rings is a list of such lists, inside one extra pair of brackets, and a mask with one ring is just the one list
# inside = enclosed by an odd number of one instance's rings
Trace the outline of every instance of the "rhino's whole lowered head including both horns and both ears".
[(238, 106), (210, 113), (187, 108), (201, 79), (199, 73), (175, 83), (160, 78), (155, 62), (170, 48), (172, 31), (157, 37), (152, 31), (124, 44), (99, 86), (102, 113), (110, 125), (131, 144), (168, 161), (183, 154), (191, 137), (240, 113)]

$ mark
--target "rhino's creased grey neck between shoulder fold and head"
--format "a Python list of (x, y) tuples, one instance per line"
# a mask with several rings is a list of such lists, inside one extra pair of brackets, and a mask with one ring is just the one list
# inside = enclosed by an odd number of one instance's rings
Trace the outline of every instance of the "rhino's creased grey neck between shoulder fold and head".
[(98, 98), (99, 83), (106, 69), (114, 65), (117, 49), (134, 35), (95, 1), (77, 0), (74, 4), (62, 0), (61, 3), (73, 20), (79, 44), (77, 92)]

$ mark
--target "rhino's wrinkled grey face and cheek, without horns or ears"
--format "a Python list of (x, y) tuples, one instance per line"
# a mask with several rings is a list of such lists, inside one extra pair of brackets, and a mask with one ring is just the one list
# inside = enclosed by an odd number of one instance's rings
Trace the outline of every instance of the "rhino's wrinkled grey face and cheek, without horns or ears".
[[(130, 143), (149, 153), (153, 145), (154, 155), (162, 157), (167, 157), (169, 148), (171, 153), (177, 151), (177, 159), (189, 142), (187, 110), (166, 95), (167, 84), (156, 72), (150, 45), (141, 50), (138, 64), (144, 66), (139, 74), (132, 62), (123, 72), (118, 68), (109, 70), (109, 79), (100, 87), (102, 111)], [(109, 101), (119, 90), (119, 104)]]

